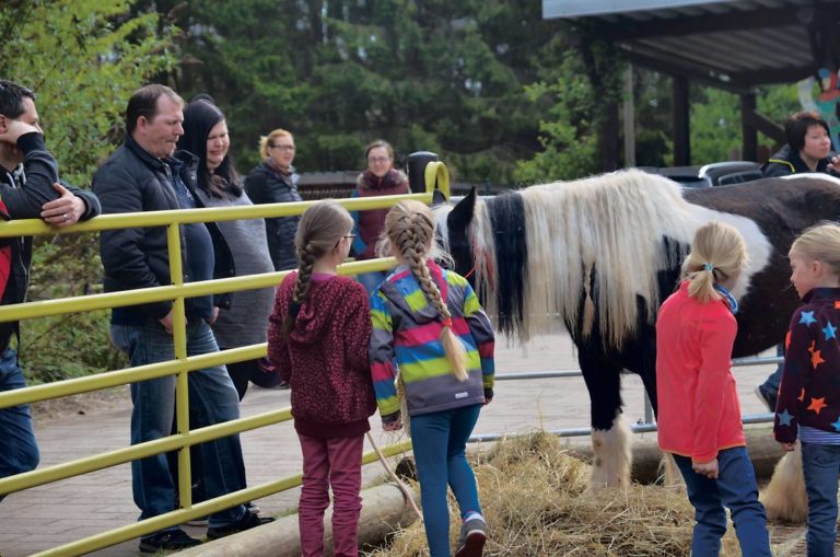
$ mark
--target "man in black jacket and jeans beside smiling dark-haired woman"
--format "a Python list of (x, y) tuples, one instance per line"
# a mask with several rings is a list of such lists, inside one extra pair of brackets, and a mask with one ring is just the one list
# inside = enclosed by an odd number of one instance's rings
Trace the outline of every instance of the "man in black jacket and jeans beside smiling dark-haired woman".
[[(184, 134), (184, 102), (165, 85), (147, 85), (135, 92), (126, 109), (126, 140), (93, 178), (105, 213), (143, 212), (197, 207), (197, 160), (189, 153), (174, 158)], [(186, 161), (186, 162), (185, 162)], [(230, 250), (214, 223), (180, 227), (183, 279), (209, 280), (234, 274)], [(166, 229), (129, 228), (104, 231), (100, 253), (105, 267), (107, 292), (160, 287), (172, 283)], [(224, 304), (211, 297), (187, 300), (187, 353), (217, 352), (210, 329)], [(112, 312), (110, 337), (130, 358), (132, 365), (173, 360), (172, 302), (153, 302)], [(131, 384), (133, 411), (131, 443), (170, 434), (175, 404), (175, 376)], [(189, 373), (189, 404), (195, 426), (205, 427), (240, 417), (240, 399), (224, 365)], [(244, 488), (244, 463), (238, 436), (201, 444), (203, 485), (208, 497)], [(175, 509), (176, 487), (165, 454), (131, 463), (135, 502), (140, 520)], [(209, 518), (208, 537), (217, 538), (258, 526), (261, 519), (242, 504)], [(198, 545), (179, 527), (165, 529), (141, 538), (140, 550), (180, 550)]]

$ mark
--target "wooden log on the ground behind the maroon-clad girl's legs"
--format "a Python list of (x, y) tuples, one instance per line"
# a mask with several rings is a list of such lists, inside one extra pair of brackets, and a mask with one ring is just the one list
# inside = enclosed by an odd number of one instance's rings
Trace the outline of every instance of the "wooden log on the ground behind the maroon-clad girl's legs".
[[(419, 495), (415, 495), (419, 501)], [(399, 527), (417, 520), (417, 515), (394, 484), (383, 484), (362, 490), (362, 513), (359, 517), (359, 544), (376, 544)], [(332, 506), (324, 517), (326, 555), (332, 554)], [(298, 514), (290, 514), (254, 530), (223, 537), (178, 553), (180, 556), (230, 557), (231, 555), (271, 555), (299, 557), (301, 536)]]

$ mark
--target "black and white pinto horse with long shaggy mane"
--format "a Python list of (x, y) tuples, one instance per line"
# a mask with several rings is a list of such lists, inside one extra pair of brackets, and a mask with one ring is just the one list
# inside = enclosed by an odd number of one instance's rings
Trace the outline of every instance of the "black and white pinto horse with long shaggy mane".
[(791, 243), (837, 219), (840, 181), (810, 174), (688, 189), (630, 170), (488, 199), (474, 190), (435, 214), (456, 271), (469, 276), (501, 333), (526, 341), (568, 327), (592, 403), (592, 484), (627, 485), (621, 372), (641, 376), (656, 409), (656, 311), (695, 231), (716, 220), (743, 234), (749, 263), (733, 289), (733, 357), (758, 353), (784, 338), (798, 304)]

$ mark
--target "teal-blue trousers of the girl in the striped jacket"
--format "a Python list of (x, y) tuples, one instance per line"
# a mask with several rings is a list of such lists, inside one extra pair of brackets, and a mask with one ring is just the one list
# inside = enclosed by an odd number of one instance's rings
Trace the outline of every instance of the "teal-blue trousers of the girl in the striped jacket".
[(481, 513), (476, 476), (465, 454), (480, 410), (481, 405), (477, 404), (411, 416), (411, 443), (431, 557), (450, 555), (447, 484), (458, 501), (462, 518), (469, 512)]

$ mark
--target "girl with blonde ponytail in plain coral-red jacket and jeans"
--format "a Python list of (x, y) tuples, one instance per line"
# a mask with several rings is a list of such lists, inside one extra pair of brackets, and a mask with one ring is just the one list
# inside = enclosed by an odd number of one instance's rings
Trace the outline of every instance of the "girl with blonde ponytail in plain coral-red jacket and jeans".
[(747, 454), (730, 369), (738, 307), (728, 289), (747, 263), (744, 239), (722, 222), (698, 229), (684, 280), (656, 320), (660, 449), (672, 453), (696, 509), (693, 557), (716, 557), (730, 509), (740, 552), (770, 557), (767, 517)]

